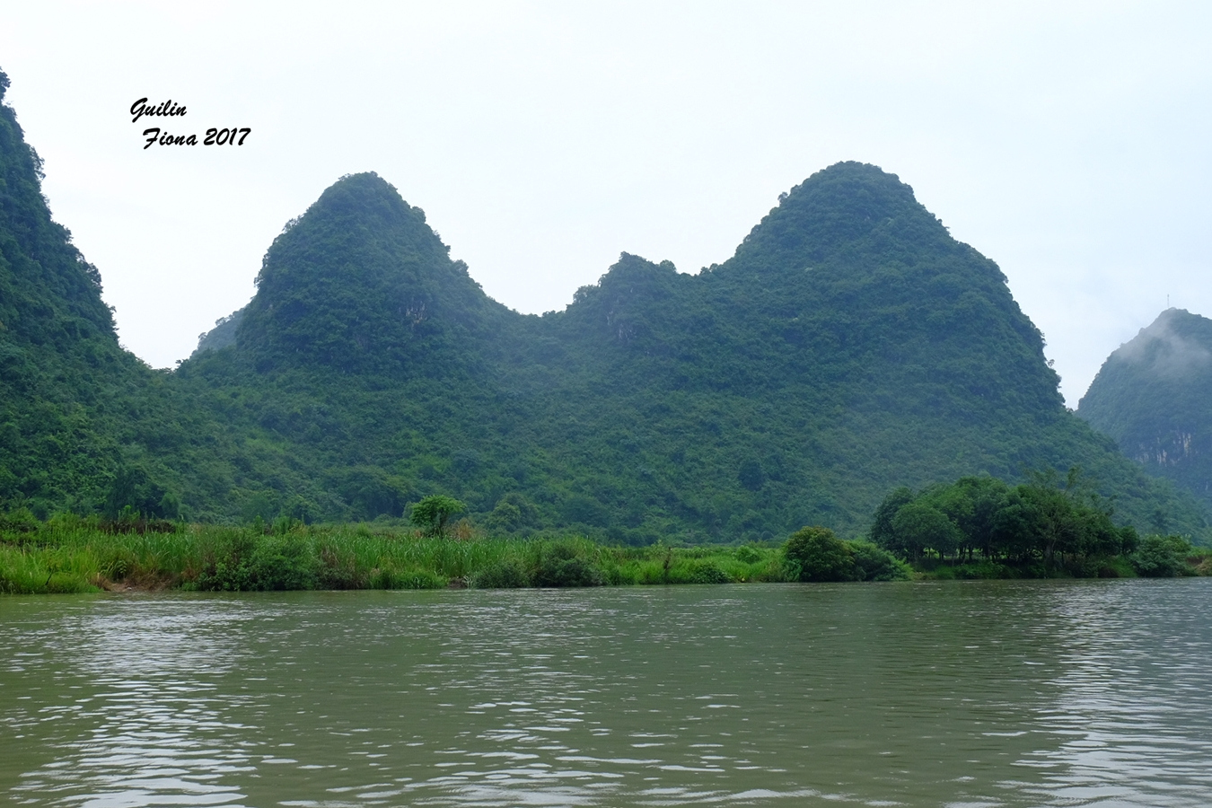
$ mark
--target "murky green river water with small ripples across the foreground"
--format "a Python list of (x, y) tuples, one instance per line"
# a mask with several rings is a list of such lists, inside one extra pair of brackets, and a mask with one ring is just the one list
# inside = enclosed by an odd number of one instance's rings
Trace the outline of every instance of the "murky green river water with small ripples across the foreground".
[(1208, 806), (1212, 580), (0, 597), (0, 793)]

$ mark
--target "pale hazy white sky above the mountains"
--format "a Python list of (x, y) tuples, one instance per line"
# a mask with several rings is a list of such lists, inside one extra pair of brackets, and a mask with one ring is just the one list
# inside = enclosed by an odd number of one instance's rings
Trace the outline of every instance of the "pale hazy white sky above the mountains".
[[(1076, 406), (1167, 294), (1212, 315), (1210, 55), (1207, 2), (0, 2), (55, 218), (156, 367), (345, 173), (541, 313), (622, 251), (722, 262), (859, 160), (999, 263)], [(132, 124), (142, 97), (188, 114)], [(252, 133), (144, 150), (152, 125)]]

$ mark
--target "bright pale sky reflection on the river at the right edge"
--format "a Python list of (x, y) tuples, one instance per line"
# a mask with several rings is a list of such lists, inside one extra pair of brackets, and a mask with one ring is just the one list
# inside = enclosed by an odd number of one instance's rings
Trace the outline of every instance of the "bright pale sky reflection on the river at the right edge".
[(1039, 722), (1058, 740), (1025, 766), (1048, 804), (1207, 806), (1212, 798), (1212, 661), (1205, 581), (1060, 590), (1068, 637), (1059, 694)]

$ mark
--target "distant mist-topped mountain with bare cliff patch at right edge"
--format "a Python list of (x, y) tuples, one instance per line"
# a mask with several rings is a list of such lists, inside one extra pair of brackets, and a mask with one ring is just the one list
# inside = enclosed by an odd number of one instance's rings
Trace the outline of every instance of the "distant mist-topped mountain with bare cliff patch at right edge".
[(1212, 320), (1162, 311), (1107, 357), (1077, 414), (1212, 505)]

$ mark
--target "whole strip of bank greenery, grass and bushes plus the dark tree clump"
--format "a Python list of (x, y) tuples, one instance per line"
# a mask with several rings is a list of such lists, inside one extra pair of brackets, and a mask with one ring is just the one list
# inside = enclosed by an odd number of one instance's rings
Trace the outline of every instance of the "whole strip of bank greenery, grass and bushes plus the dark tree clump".
[(1212, 574), (1212, 550), (1178, 535), (1138, 540), (1133, 528), (1111, 527), (1088, 492), (1076, 493), (1074, 477), (1063, 488), (1053, 482), (965, 479), (917, 495), (893, 492), (874, 520), (884, 546), (819, 526), (782, 545), (634, 548), (577, 535), (492, 537), (465, 520), (446, 533), (431, 520), (423, 529), (286, 517), (271, 526), (187, 525), (132, 512), (42, 522), (18, 509), (0, 515), (0, 594)]

